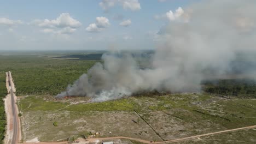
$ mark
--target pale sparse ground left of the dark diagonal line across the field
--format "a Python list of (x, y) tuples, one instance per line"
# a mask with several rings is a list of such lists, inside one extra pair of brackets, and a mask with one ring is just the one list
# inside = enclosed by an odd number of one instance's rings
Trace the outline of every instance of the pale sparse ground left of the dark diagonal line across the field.
[[(57, 122), (56, 127), (54, 122)], [(133, 111), (30, 111), (22, 117), (22, 129), (24, 140), (35, 137), (40, 141), (67, 140), (71, 136), (86, 135), (89, 131), (100, 131), (102, 137), (125, 135), (161, 141)]]

